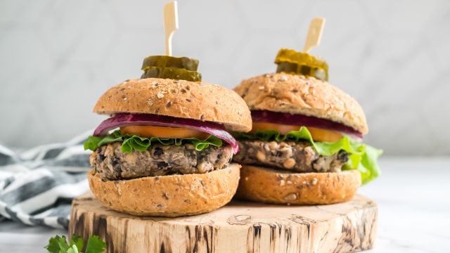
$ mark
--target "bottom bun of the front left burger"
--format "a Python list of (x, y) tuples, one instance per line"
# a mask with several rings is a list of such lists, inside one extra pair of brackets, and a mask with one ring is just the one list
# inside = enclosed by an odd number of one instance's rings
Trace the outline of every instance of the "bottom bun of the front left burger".
[(230, 202), (239, 183), (240, 164), (205, 174), (148, 176), (102, 181), (93, 170), (92, 193), (117, 212), (137, 216), (186, 216), (211, 212)]

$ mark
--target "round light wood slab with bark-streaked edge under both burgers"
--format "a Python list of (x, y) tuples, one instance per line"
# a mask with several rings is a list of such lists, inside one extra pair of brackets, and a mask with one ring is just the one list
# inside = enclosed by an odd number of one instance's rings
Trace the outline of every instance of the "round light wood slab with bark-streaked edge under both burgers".
[(138, 217), (91, 193), (72, 202), (69, 235), (99, 235), (107, 252), (356, 252), (373, 247), (378, 209), (356, 195), (321, 206), (233, 201), (208, 214)]

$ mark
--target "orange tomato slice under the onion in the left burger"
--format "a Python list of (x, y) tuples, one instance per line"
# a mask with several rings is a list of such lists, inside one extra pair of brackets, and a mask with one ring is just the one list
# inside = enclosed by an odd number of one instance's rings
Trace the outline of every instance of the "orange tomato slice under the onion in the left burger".
[(120, 134), (136, 134), (141, 137), (160, 138), (198, 138), (200, 140), (210, 136), (210, 134), (203, 131), (170, 126), (122, 126)]

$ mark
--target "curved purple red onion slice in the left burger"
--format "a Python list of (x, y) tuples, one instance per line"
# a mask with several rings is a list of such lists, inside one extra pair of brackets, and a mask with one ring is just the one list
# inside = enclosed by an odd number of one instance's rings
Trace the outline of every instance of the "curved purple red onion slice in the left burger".
[(207, 134), (211, 134), (220, 138), (231, 145), (233, 153), (236, 155), (239, 151), (239, 145), (229, 132), (227, 132), (223, 125), (214, 122), (202, 122), (195, 119), (183, 119), (176, 117), (169, 117), (163, 115), (151, 115), (151, 114), (118, 114), (109, 119), (105, 119), (94, 130), (94, 136), (105, 136), (108, 131), (116, 129), (121, 126), (174, 126), (174, 127), (186, 127), (203, 131)]

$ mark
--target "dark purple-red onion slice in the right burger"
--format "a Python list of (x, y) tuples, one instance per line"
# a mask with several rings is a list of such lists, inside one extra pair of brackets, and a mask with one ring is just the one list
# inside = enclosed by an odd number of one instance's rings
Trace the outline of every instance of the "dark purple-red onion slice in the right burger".
[(293, 115), (285, 112), (271, 112), (268, 110), (252, 110), (253, 122), (267, 122), (276, 124), (290, 124), (295, 126), (313, 126), (321, 129), (340, 131), (357, 138), (363, 138), (363, 134), (350, 126), (333, 122), (329, 119), (321, 119), (306, 115)]

